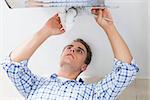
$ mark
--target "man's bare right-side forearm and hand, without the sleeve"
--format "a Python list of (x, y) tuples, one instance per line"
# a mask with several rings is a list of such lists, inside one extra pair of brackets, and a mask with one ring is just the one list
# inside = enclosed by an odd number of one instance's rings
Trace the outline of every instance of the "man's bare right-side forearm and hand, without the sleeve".
[(118, 33), (108, 9), (93, 8), (92, 13), (96, 15), (95, 19), (97, 23), (106, 32), (113, 49), (114, 57), (123, 62), (131, 63), (132, 55), (130, 53), (130, 50), (125, 41)]

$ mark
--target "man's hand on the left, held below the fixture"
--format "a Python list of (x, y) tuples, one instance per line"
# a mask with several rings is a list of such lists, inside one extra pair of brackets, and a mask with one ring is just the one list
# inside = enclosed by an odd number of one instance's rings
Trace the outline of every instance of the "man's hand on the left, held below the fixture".
[(64, 33), (65, 30), (61, 24), (60, 17), (58, 16), (58, 14), (56, 14), (52, 18), (50, 18), (45, 23), (45, 25), (42, 27), (40, 32), (42, 32), (43, 34), (46, 34), (48, 36)]

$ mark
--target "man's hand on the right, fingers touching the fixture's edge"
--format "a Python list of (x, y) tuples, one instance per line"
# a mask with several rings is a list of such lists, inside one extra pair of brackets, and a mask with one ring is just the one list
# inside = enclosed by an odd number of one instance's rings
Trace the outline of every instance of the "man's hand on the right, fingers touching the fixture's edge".
[(92, 8), (92, 14), (96, 15), (96, 22), (106, 31), (113, 25), (113, 19), (107, 8)]

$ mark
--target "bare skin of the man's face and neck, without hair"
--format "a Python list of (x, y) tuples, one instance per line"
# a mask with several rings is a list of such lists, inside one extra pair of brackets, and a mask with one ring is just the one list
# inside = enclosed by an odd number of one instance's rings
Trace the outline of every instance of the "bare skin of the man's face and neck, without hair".
[(86, 56), (86, 48), (80, 42), (72, 42), (66, 46), (61, 55), (61, 69), (58, 72), (58, 76), (69, 76), (69, 79), (76, 79), (87, 68), (87, 64), (84, 63)]

